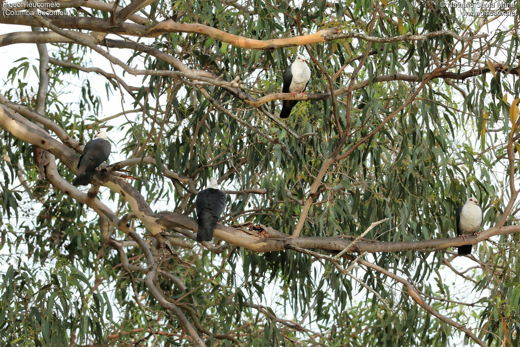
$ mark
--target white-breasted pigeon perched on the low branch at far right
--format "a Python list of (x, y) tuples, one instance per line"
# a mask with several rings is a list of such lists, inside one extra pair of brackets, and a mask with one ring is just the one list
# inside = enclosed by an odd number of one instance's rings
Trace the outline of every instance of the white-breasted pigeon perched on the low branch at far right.
[[(482, 207), (478, 204), (475, 197), (467, 199), (463, 206), (457, 209), (457, 235), (464, 240), (467, 235), (478, 235), (480, 225), (482, 225)], [(467, 255), (471, 253), (471, 245), (459, 246), (459, 255)]]

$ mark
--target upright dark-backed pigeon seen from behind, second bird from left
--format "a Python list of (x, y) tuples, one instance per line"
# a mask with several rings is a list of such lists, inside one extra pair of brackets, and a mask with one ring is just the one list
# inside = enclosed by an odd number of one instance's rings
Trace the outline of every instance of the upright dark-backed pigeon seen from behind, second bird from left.
[(210, 187), (199, 191), (196, 199), (197, 241), (211, 241), (213, 230), (226, 205), (226, 195), (218, 189), (217, 180), (210, 178)]

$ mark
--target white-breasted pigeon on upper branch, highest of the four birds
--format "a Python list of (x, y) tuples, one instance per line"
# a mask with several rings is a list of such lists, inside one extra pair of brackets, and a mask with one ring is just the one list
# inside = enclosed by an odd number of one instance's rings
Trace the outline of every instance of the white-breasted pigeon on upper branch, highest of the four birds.
[[(310, 69), (305, 63), (305, 57), (299, 55), (283, 74), (283, 93), (303, 93), (310, 79)], [(280, 118), (287, 118), (298, 100), (283, 100)]]

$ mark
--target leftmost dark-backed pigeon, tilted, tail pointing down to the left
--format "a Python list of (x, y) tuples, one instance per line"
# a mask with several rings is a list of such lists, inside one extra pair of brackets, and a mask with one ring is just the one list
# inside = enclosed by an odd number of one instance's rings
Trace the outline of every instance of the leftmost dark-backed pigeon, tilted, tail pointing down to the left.
[(107, 133), (98, 131), (94, 138), (87, 142), (83, 148), (83, 154), (77, 163), (77, 176), (72, 184), (75, 186), (89, 184), (96, 168), (110, 156), (110, 149), (111, 146), (107, 140)]

